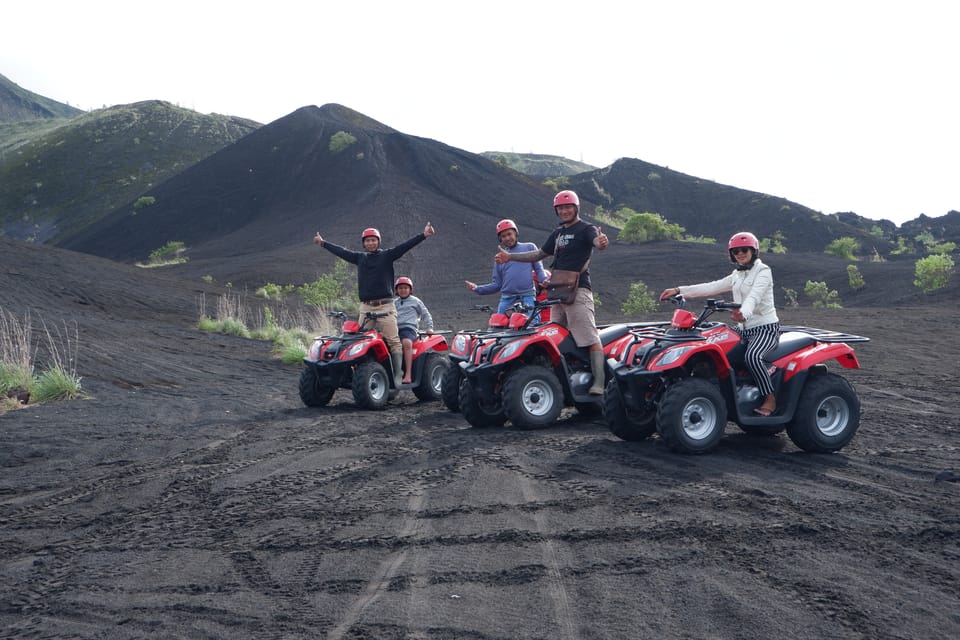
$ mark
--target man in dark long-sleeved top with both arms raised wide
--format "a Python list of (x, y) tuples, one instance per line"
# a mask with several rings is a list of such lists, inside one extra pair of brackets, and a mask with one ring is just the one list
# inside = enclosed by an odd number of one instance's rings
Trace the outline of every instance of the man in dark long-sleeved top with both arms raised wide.
[[(383, 313), (385, 316), (374, 322), (374, 327), (383, 334), (383, 339), (390, 349), (390, 362), (393, 364), (393, 375), (396, 386), (400, 386), (403, 369), (403, 344), (400, 342), (400, 333), (397, 329), (397, 308), (393, 304), (393, 282), (395, 274), (393, 263), (403, 254), (434, 234), (433, 225), (429, 222), (418, 233), (403, 244), (391, 249), (380, 248), (380, 232), (374, 228), (364, 229), (360, 234), (363, 242), (363, 251), (351, 251), (339, 245), (327, 242), (317, 232), (313, 243), (318, 244), (338, 258), (357, 265), (357, 292), (360, 295), (360, 324), (367, 321), (367, 313)], [(369, 321), (367, 321), (369, 322)]]

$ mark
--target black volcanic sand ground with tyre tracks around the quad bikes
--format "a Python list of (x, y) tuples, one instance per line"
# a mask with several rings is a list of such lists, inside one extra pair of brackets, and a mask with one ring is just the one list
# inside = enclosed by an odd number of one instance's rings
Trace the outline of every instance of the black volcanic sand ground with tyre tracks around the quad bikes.
[(76, 323), (87, 398), (0, 415), (3, 637), (960, 636), (951, 304), (784, 309), (871, 338), (832, 367), (856, 437), (683, 456), (576, 413), (307, 408), (268, 343), (195, 328), (199, 288), (13, 250), (0, 306)]

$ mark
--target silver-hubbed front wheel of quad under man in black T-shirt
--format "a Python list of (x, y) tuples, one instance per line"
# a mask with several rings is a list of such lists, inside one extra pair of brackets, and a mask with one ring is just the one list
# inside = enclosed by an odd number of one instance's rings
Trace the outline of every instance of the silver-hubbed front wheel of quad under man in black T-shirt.
[(519, 429), (553, 424), (563, 409), (563, 389), (556, 374), (539, 365), (517, 369), (503, 384), (503, 409)]

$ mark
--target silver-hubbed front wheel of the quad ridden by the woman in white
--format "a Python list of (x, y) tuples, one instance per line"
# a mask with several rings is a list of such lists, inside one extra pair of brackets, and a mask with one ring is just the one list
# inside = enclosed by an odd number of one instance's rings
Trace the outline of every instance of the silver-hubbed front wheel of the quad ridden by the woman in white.
[(720, 442), (727, 405), (720, 389), (703, 378), (684, 378), (663, 392), (657, 430), (671, 451), (706, 453)]

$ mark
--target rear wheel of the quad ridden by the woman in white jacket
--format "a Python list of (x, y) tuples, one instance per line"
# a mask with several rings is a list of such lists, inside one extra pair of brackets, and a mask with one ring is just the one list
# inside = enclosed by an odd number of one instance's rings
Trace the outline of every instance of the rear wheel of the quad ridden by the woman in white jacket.
[(787, 435), (810, 453), (845, 447), (860, 428), (860, 398), (846, 378), (834, 373), (807, 380)]

